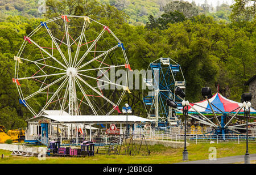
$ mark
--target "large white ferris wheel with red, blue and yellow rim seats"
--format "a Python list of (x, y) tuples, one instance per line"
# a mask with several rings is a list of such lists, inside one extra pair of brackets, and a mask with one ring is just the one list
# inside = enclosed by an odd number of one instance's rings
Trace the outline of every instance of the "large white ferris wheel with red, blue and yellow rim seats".
[[(108, 26), (72, 15), (41, 22), (24, 36), (14, 59), (19, 102), (35, 117), (46, 109), (70, 115), (121, 113), (130, 65)], [(122, 81), (110, 77), (113, 70), (125, 71)]]

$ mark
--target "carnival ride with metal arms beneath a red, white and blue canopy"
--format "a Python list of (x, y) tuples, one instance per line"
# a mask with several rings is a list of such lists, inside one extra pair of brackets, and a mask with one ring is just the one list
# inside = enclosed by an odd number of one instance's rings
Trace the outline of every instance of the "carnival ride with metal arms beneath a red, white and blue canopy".
[[(179, 89), (179, 88), (177, 88)], [(176, 89), (176, 91), (177, 91)], [(209, 87), (202, 88), (201, 91), (205, 100), (198, 103), (189, 103), (188, 105), (188, 117), (196, 119), (203, 125), (212, 127), (212, 131), (208, 133), (200, 134), (197, 136), (197, 139), (207, 139), (218, 136), (218, 139), (238, 139), (244, 137), (241, 132), (246, 130), (246, 116), (242, 116), (245, 108), (242, 103), (237, 103), (236, 101), (226, 99), (220, 93), (216, 93), (212, 96), (211, 89)], [(179, 96), (180, 93), (177, 93)], [(180, 96), (179, 96), (180, 97)], [(184, 100), (183, 97), (180, 99)], [(174, 101), (174, 104), (171, 104), (171, 108), (176, 111), (177, 114), (182, 114), (183, 109), (177, 109)], [(244, 108), (244, 109), (243, 109)], [(250, 108), (252, 114), (256, 113), (256, 110)], [(238, 120), (241, 124), (235, 123), (234, 120)], [(248, 122), (249, 126), (256, 125), (256, 122)], [(195, 138), (192, 138), (195, 139)], [(249, 139), (255, 139), (250, 137)]]

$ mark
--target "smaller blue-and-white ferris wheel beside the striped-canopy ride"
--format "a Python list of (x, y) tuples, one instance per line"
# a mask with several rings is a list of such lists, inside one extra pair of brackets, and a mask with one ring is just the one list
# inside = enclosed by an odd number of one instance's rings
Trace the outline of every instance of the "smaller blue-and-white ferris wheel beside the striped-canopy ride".
[(185, 78), (181, 67), (171, 58), (159, 58), (150, 63), (150, 78), (144, 76), (147, 89), (143, 88), (144, 106), (148, 119), (155, 120), (155, 126), (180, 125), (180, 119), (174, 116), (174, 111), (166, 105), (166, 99), (174, 100), (178, 109), (182, 109), (181, 99), (176, 96), (175, 88), (180, 87), (185, 91)]

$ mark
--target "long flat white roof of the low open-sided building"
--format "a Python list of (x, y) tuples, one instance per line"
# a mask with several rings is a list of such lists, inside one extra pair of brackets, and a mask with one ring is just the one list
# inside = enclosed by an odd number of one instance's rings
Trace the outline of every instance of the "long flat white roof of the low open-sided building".
[[(48, 116), (43, 115), (36, 118), (28, 119), (33, 121), (39, 118), (49, 118), (52, 121), (61, 123), (126, 123), (126, 116)], [(138, 116), (128, 116), (128, 123), (141, 123), (141, 122), (153, 122), (152, 119), (147, 119)]]

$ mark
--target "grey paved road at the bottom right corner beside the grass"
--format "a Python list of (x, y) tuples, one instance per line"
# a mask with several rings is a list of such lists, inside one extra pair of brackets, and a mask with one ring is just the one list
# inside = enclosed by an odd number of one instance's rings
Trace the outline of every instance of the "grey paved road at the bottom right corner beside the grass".
[[(250, 155), (251, 161), (256, 160), (256, 153)], [(217, 158), (217, 160), (196, 160), (179, 164), (233, 164), (245, 161), (245, 155)]]

